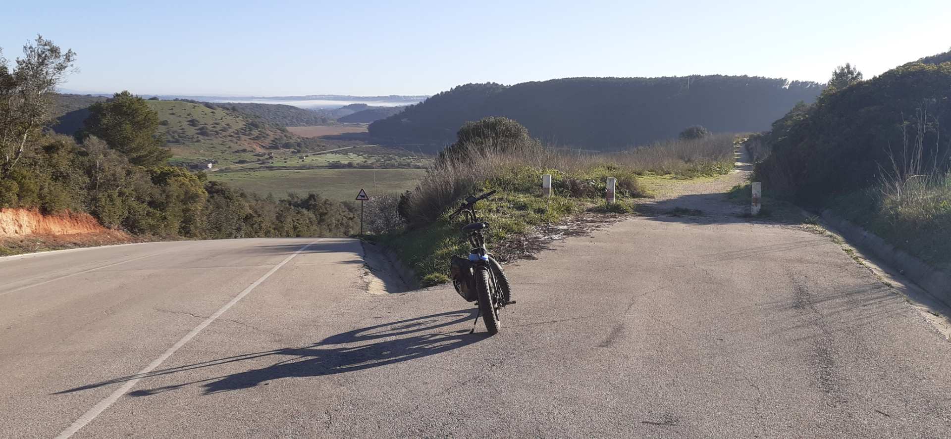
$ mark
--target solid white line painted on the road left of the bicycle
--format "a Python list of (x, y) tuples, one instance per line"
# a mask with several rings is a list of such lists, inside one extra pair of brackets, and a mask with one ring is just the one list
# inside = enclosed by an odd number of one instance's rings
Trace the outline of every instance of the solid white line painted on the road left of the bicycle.
[[(258, 285), (260, 285), (261, 282), (263, 282), (268, 277), (271, 277), (271, 275), (273, 275), (275, 272), (280, 270), (281, 267), (284, 266), (284, 264), (286, 264), (287, 262), (290, 262), (291, 259), (300, 255), (301, 252), (303, 252), (304, 250), (307, 250), (307, 247), (310, 247), (311, 245), (314, 245), (315, 243), (317, 242), (316, 241), (310, 242), (307, 245), (304, 245), (303, 247), (301, 247), (301, 250), (294, 252), (293, 255), (287, 258), (284, 258), (284, 260), (281, 260), (281, 263), (275, 265), (274, 268), (271, 269), (271, 271), (265, 273), (264, 276), (262, 276), (258, 280), (255, 280), (254, 283), (252, 283), (251, 285), (248, 285), (248, 287), (245, 288), (241, 293), (239, 293), (238, 296), (235, 296), (234, 298), (231, 299), (231, 301), (229, 301), (228, 303), (225, 303), (221, 309), (215, 312), (215, 314), (209, 316), (208, 318), (205, 318), (201, 324), (195, 327), (195, 329), (191, 330), (190, 333), (185, 334), (184, 337), (182, 337), (182, 339), (178, 341), (178, 343), (175, 343), (175, 345), (173, 345), (171, 348), (168, 348), (168, 350), (165, 351), (165, 353), (163, 353), (154, 361), (149, 363), (148, 366), (146, 366), (146, 369), (139, 371), (138, 373), (136, 373), (136, 375), (144, 375), (148, 372), (154, 371), (155, 368), (162, 365), (162, 363), (164, 363), (165, 360), (167, 360), (169, 356), (172, 356), (173, 353), (181, 349), (185, 343), (191, 340), (198, 333), (201, 333), (202, 330), (204, 330), (206, 326), (210, 325), (211, 322), (215, 321), (215, 319), (223, 315), (225, 311), (228, 311), (229, 308), (234, 306), (235, 303), (238, 303), (238, 301), (241, 300), (244, 296), (247, 296), (248, 293), (251, 293), (251, 291), (254, 290), (255, 287), (257, 287)], [(76, 434), (76, 431), (79, 431), (83, 427), (86, 427), (86, 425), (90, 421), (95, 419), (96, 416), (99, 416), (99, 414), (102, 413), (103, 411), (106, 411), (109, 408), (109, 406), (111, 406), (113, 403), (118, 401), (119, 398), (122, 397), (122, 395), (126, 394), (127, 391), (129, 391), (130, 389), (132, 389), (132, 387), (138, 384), (139, 380), (141, 379), (142, 378), (140, 377), (140, 378), (133, 378), (131, 380), (126, 381), (126, 384), (124, 384), (123, 387), (117, 389), (116, 391), (113, 391), (111, 394), (107, 396), (106, 399), (99, 401), (99, 404), (96, 404), (95, 407), (93, 407), (92, 409), (89, 409), (86, 413), (80, 416), (79, 419), (77, 419), (76, 422), (73, 422), (72, 425), (70, 425), (68, 429), (64, 429), (62, 433), (56, 436), (56, 439), (68, 439), (73, 434)]]

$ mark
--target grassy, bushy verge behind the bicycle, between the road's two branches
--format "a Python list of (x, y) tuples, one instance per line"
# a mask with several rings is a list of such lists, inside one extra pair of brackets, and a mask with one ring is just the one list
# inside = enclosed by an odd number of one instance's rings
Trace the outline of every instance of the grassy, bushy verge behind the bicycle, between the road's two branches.
[[(712, 176), (732, 165), (732, 135), (704, 133), (619, 153), (579, 154), (545, 147), (512, 120), (485, 118), (464, 124), (456, 143), (440, 153), (417, 187), (388, 204), (400, 221), (373, 230), (378, 234), (373, 239), (396, 249), (423, 285), (433, 285), (448, 279), (452, 255), (469, 251), (458, 230), (464, 224), (448, 219), (469, 194), (498, 191), (480, 201), (478, 214), (491, 224), (490, 250), (506, 260), (498, 249), (534, 226), (585, 212), (632, 212), (633, 200), (650, 197), (640, 181), (645, 176)], [(541, 194), (544, 174), (553, 176), (551, 198)], [(608, 177), (617, 179), (617, 203), (611, 206), (604, 202)]]

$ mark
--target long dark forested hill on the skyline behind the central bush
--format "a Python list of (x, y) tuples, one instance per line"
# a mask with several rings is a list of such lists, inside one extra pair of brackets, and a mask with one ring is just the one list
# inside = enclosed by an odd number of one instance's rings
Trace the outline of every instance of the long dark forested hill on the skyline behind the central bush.
[(762, 131), (823, 86), (749, 76), (567, 78), (456, 86), (370, 124), (377, 138), (450, 143), (466, 121), (504, 116), (548, 143), (611, 150), (676, 137), (685, 126)]

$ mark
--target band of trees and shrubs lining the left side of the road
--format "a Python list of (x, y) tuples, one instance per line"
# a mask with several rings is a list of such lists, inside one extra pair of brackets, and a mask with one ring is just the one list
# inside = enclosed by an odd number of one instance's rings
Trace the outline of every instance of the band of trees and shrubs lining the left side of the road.
[(0, 59), (0, 208), (87, 212), (111, 229), (171, 239), (346, 236), (359, 228), (352, 203), (259, 197), (169, 166), (167, 125), (149, 105), (159, 101), (117, 93), (90, 107), (75, 137), (50, 133), (54, 90), (74, 60), (43, 37), (15, 62)]

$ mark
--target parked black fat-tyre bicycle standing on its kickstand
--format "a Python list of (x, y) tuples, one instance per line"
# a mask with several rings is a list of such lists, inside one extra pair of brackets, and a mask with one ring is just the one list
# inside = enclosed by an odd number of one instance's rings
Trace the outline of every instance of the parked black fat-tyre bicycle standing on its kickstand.
[(450, 220), (456, 219), (459, 215), (464, 215), (469, 220), (469, 224), (461, 229), (472, 246), (469, 258), (454, 256), (451, 267), (456, 293), (467, 301), (476, 301), (478, 304), (476, 321), (470, 334), (476, 332), (479, 315), (482, 315), (485, 329), (489, 331), (489, 334), (498, 334), (502, 325), (500, 315), (502, 308), (515, 303), (512, 300), (512, 286), (509, 278), (505, 277), (501, 264), (493, 258), (485, 245), (482, 231), (488, 228), (489, 224), (478, 220), (476, 216), (476, 202), (486, 200), (493, 195), (495, 191), (478, 197), (469, 196), (456, 212), (449, 215)]

